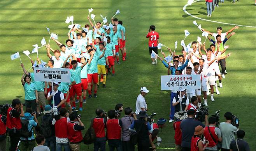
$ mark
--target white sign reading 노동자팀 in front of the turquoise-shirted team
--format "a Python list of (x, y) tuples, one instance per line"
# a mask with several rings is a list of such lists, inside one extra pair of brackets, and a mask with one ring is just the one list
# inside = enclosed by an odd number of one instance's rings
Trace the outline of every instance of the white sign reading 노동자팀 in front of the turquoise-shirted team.
[(70, 70), (60, 68), (34, 68), (35, 81), (70, 82)]

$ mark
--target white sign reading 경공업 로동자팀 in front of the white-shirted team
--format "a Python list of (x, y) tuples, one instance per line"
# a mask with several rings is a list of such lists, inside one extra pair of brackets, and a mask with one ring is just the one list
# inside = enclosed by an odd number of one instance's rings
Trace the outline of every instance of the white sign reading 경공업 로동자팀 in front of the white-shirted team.
[(161, 76), (161, 90), (201, 89), (200, 75)]

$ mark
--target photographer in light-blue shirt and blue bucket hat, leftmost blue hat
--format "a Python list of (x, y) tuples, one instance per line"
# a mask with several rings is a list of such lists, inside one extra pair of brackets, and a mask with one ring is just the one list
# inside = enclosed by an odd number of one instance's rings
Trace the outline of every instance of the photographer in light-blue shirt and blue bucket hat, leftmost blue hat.
[(33, 127), (37, 127), (37, 114), (27, 108), (24, 116), (21, 117), (21, 151), (31, 151), (35, 147)]

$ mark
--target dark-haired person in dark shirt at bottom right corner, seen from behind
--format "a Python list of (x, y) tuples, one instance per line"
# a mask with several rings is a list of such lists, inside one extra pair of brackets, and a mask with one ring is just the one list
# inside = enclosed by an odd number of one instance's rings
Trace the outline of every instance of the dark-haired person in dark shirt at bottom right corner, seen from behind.
[(250, 151), (249, 144), (243, 140), (244, 136), (243, 130), (237, 131), (237, 139), (231, 141), (230, 151)]

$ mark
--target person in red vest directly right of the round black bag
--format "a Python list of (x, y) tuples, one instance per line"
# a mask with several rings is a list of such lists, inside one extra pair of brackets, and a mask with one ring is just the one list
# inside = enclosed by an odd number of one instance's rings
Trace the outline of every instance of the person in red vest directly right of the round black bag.
[(106, 113), (102, 109), (96, 109), (96, 118), (93, 118), (93, 129), (95, 131), (96, 139), (94, 141), (94, 151), (106, 150), (106, 137), (105, 137), (105, 127), (107, 123)]

